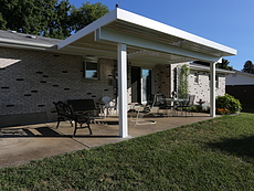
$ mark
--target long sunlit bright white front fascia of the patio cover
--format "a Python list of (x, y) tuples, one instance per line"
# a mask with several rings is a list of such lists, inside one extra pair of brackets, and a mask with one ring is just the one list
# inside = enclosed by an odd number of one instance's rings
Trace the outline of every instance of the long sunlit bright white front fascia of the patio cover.
[(232, 47), (219, 44), (216, 42), (207, 40), (204, 38), (191, 34), (189, 32), (179, 30), (177, 28), (167, 25), (165, 23), (145, 18), (142, 15), (139, 15), (139, 14), (136, 14), (136, 13), (133, 13), (133, 12), (129, 12), (129, 11), (126, 11), (119, 8), (117, 9), (117, 19), (124, 20), (126, 22), (130, 22), (137, 25), (141, 25), (144, 28), (152, 29), (155, 31), (159, 31), (159, 32), (162, 32), (169, 35), (181, 38), (183, 40), (188, 40), (194, 43), (199, 43), (199, 44), (202, 44), (209, 47), (213, 47), (215, 50), (226, 52), (229, 55), (236, 55), (237, 53), (237, 51)]

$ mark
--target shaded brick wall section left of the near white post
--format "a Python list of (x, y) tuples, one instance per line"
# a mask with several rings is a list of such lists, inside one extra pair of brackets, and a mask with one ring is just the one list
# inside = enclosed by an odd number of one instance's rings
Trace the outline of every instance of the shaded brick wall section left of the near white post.
[(53, 102), (114, 97), (110, 82), (116, 63), (99, 60), (100, 81), (96, 82), (82, 77), (82, 56), (0, 47), (0, 126), (19, 115), (29, 120), (29, 114), (33, 120), (55, 120)]

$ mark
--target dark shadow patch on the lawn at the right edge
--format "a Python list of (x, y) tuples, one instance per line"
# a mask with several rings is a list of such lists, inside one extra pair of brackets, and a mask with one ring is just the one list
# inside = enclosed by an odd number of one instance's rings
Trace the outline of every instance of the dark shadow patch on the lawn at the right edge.
[(213, 149), (227, 151), (237, 157), (254, 158), (254, 136), (225, 139), (221, 142), (208, 144)]

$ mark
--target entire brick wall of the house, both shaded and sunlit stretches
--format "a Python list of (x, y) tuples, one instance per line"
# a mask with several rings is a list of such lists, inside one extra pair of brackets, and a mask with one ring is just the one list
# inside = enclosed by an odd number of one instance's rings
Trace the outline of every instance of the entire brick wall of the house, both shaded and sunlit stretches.
[[(113, 83), (117, 62), (99, 59), (100, 79), (83, 78), (83, 56), (56, 54), (45, 51), (0, 47), (0, 127), (28, 123), (52, 121), (56, 119), (53, 102), (93, 98), (103, 96), (117, 98), (117, 86)], [(157, 64), (152, 68), (152, 93), (167, 97), (173, 91), (173, 68), (189, 64)], [(128, 63), (127, 92), (131, 102), (131, 64)], [(210, 100), (209, 72), (199, 73), (194, 83), (194, 72), (189, 75), (189, 93)], [(216, 95), (225, 94), (225, 76), (219, 74)]]

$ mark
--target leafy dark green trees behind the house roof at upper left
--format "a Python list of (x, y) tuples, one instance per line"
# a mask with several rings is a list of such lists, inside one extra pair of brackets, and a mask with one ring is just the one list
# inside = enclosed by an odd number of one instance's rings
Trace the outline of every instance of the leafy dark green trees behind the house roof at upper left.
[(109, 10), (88, 1), (81, 8), (68, 0), (0, 0), (0, 29), (65, 39)]

